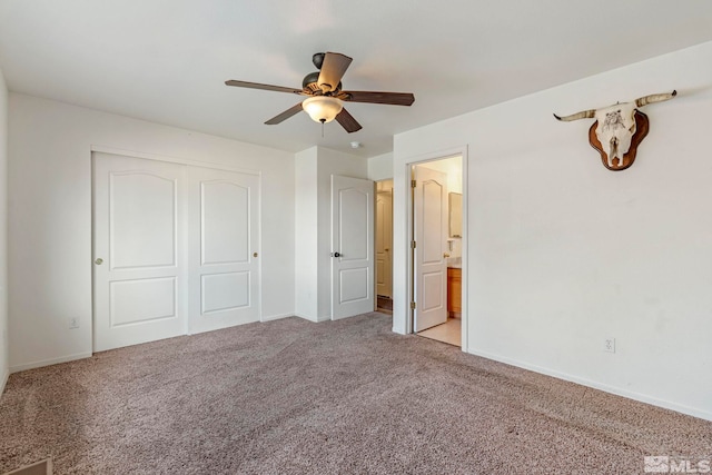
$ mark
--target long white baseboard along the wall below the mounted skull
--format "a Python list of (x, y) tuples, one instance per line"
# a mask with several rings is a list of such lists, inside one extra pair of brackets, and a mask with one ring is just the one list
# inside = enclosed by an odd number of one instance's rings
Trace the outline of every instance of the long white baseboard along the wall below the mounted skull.
[(527, 369), (542, 375), (552, 376), (557, 379), (563, 379), (571, 383), (576, 383), (583, 386), (587, 386), (594, 389), (600, 389), (600, 390), (603, 390), (604, 393), (614, 394), (616, 396), (626, 397), (629, 399), (637, 400), (640, 403), (651, 404), (653, 406), (675, 410), (678, 413), (686, 414), (693, 417), (699, 417), (701, 419), (706, 419), (712, 422), (712, 412), (709, 412), (709, 410), (699, 409), (696, 407), (684, 406), (684, 405), (672, 403), (665, 399), (659, 399), (656, 397), (647, 396), (645, 394), (635, 393), (635, 392), (623, 389), (616, 386), (610, 386), (607, 384), (599, 383), (592, 379), (572, 376), (567, 373), (561, 373), (554, 369), (545, 368), (537, 365), (532, 365), (528, 363), (521, 362), (518, 359), (506, 358), (504, 356), (494, 355), (487, 352), (477, 352), (476, 349), (467, 348), (467, 353), (471, 355), (481, 356), (483, 358), (493, 359), (495, 362), (516, 366), (518, 368)]

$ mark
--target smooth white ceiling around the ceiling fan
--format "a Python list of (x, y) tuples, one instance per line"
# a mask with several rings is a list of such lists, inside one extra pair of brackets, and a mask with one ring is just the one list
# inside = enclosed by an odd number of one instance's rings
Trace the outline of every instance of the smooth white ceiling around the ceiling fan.
[[(709, 0), (0, 0), (12, 91), (364, 157), (390, 151), (394, 133), (709, 40)], [(354, 58), (345, 90), (413, 92), (415, 103), (348, 103), (364, 128), (332, 122), (322, 138), (306, 113), (263, 123), (298, 96), (224, 85), (300, 88), (318, 51)]]

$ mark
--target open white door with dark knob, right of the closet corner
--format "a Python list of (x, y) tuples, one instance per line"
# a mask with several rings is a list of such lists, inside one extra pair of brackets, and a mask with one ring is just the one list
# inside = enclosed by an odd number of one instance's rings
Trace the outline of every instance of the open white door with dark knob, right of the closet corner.
[(374, 310), (374, 182), (332, 175), (332, 318)]

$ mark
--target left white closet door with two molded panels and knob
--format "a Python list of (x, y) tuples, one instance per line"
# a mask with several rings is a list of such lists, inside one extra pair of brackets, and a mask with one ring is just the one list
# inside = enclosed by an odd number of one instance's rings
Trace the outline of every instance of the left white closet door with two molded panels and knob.
[(95, 352), (185, 333), (184, 167), (93, 155)]

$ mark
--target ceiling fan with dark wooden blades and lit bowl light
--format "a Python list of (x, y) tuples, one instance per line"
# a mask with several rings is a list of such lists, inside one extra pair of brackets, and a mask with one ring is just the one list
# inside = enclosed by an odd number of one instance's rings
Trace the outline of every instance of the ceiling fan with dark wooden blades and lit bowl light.
[(268, 126), (280, 123), (304, 110), (317, 122), (325, 123), (336, 119), (349, 133), (360, 130), (362, 126), (344, 109), (343, 102), (411, 106), (415, 101), (415, 96), (411, 92), (342, 90), (342, 77), (352, 63), (352, 58), (338, 52), (317, 52), (312, 57), (312, 62), (314, 62), (318, 71), (304, 77), (301, 89), (236, 80), (225, 81), (225, 83), (238, 88), (264, 89), (267, 91), (308, 96), (304, 101), (267, 120), (265, 123)]

